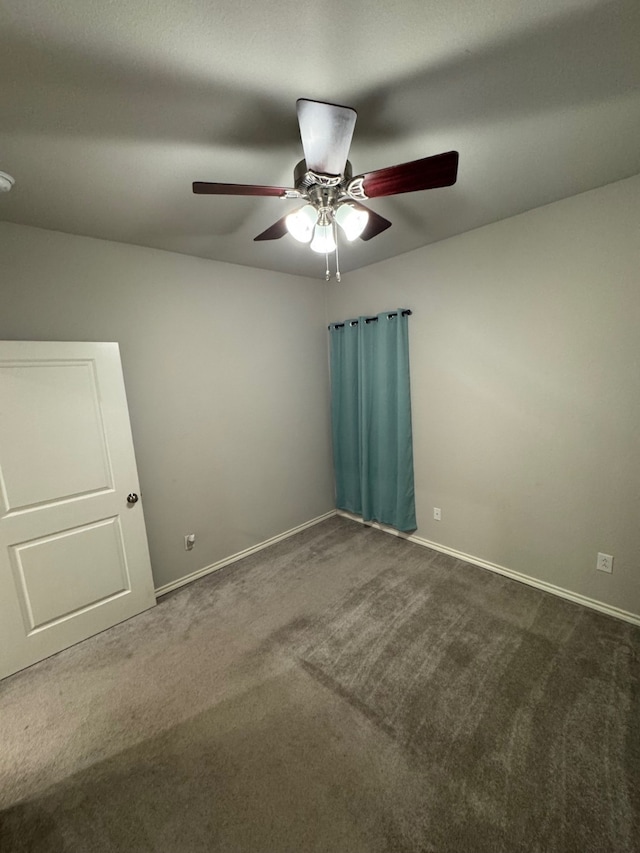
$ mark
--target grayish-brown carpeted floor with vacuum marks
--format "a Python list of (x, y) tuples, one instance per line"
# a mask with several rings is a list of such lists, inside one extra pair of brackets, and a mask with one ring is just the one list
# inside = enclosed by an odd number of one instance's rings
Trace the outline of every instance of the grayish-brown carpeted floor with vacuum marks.
[(640, 851), (640, 629), (342, 518), (0, 682), (2, 853)]

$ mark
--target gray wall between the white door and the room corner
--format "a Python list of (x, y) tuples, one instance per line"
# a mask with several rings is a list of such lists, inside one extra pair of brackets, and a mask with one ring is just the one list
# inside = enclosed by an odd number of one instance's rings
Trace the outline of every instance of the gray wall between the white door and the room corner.
[(8, 223), (0, 250), (0, 339), (120, 343), (156, 586), (333, 507), (324, 282)]

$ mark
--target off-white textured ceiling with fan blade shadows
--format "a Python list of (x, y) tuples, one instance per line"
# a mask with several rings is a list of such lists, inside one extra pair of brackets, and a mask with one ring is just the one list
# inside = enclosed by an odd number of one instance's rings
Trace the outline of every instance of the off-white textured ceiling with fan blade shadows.
[(295, 102), (358, 111), (354, 173), (455, 149), (454, 187), (369, 202), (344, 270), (640, 172), (639, 0), (2, 0), (0, 219), (323, 277)]

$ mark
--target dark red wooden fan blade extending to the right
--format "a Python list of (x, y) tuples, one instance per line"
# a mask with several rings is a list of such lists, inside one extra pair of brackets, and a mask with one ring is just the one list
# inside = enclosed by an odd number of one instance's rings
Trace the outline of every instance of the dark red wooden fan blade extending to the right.
[(455, 184), (457, 174), (458, 152), (447, 151), (446, 154), (423, 157), (422, 160), (358, 175), (349, 181), (347, 192), (352, 198), (380, 198), (416, 190), (450, 187)]

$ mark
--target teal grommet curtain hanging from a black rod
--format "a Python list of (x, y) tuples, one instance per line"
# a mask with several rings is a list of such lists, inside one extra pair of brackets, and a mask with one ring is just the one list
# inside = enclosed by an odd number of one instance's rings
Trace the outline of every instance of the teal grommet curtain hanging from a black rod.
[(416, 529), (409, 313), (329, 326), (336, 506), (403, 531)]

